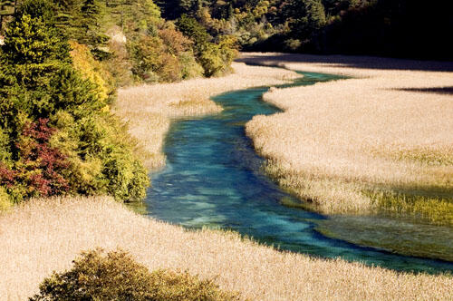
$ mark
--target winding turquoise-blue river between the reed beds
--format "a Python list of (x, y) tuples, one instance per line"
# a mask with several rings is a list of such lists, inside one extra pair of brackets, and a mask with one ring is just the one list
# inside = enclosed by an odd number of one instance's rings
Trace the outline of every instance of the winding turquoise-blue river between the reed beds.
[[(294, 85), (338, 77), (304, 73)], [(281, 205), (293, 198), (260, 170), (244, 125), (257, 114), (278, 112), (262, 102), (268, 88), (221, 94), (213, 100), (224, 111), (172, 123), (164, 152), (167, 166), (151, 174), (146, 201), (148, 214), (188, 228), (223, 228), (253, 237), (276, 248), (315, 257), (342, 257), (369, 265), (405, 271), (453, 272), (453, 263), (392, 254), (345, 240), (327, 238), (316, 230), (329, 217)]]

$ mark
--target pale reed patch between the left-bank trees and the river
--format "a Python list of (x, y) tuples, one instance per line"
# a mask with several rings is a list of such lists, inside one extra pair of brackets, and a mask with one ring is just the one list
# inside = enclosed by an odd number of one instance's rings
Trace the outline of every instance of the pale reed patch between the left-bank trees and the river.
[(292, 71), (233, 63), (234, 73), (224, 77), (194, 79), (180, 83), (145, 84), (121, 89), (115, 112), (128, 121), (130, 133), (147, 154), (146, 165), (165, 165), (161, 152), (171, 119), (198, 116), (222, 110), (209, 97), (254, 86), (288, 83), (298, 77)]

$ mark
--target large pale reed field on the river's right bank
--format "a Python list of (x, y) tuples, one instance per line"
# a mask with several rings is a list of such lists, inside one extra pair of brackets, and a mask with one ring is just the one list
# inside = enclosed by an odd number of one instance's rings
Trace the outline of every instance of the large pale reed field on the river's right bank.
[(453, 225), (453, 63), (278, 53), (241, 61), (353, 77), (265, 93), (284, 112), (255, 116), (246, 132), (282, 186), (326, 213), (385, 208)]

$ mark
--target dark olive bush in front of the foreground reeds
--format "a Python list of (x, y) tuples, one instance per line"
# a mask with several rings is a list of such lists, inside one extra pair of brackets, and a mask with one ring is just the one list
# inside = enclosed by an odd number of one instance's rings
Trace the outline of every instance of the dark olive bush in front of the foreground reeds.
[(45, 278), (29, 301), (220, 301), (239, 300), (209, 280), (167, 270), (152, 273), (123, 251), (82, 253), (71, 270)]

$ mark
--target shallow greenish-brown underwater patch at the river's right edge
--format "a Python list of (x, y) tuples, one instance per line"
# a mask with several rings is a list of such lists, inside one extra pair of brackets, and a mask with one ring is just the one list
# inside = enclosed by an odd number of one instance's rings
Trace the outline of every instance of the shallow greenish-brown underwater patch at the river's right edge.
[(386, 216), (332, 216), (316, 230), (329, 238), (406, 256), (453, 261), (453, 228)]

